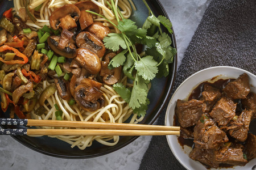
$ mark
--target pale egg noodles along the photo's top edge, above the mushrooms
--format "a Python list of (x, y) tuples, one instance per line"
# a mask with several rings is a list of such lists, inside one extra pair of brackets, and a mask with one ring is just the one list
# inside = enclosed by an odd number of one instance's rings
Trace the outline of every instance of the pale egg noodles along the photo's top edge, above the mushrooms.
[[(106, 0), (91, 0), (93, 3), (95, 3), (98, 7), (100, 7), (100, 14), (105, 16), (107, 19), (112, 21), (114, 24), (117, 24), (117, 20), (115, 19), (114, 12), (106, 5)], [(28, 18), (26, 24), (31, 27), (31, 29), (36, 30), (43, 28), (44, 25), (47, 25), (49, 27), (49, 17), (51, 16), (51, 13), (61, 6), (67, 5), (67, 4), (75, 4), (79, 1), (69, 1), (69, 0), (30, 0), (30, 5), (28, 8), (30, 10), (34, 10), (36, 7), (38, 7), (40, 4), (43, 4), (40, 8), (40, 11), (35, 11), (34, 15), (37, 20), (36, 23), (32, 22), (30, 18)], [(108, 1), (111, 3), (110, 1)], [(124, 18), (129, 18), (131, 16), (131, 11), (136, 10), (134, 3), (131, 0), (116, 0), (115, 1), (115, 7), (121, 8), (121, 13)], [(14, 0), (14, 10), (17, 15), (19, 15), (20, 8), (24, 8), (23, 0)], [(119, 15), (119, 14), (118, 14)], [(121, 16), (119, 16), (121, 18)], [(106, 22), (104, 18), (101, 18), (100, 16), (96, 16), (94, 18), (94, 21), (100, 21), (104, 22), (105, 26), (108, 26), (115, 30), (115, 32), (118, 32), (118, 29), (113, 27), (112, 24)], [(113, 30), (112, 30), (113, 31)], [(113, 31), (114, 32), (114, 31)]]

